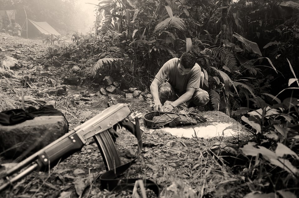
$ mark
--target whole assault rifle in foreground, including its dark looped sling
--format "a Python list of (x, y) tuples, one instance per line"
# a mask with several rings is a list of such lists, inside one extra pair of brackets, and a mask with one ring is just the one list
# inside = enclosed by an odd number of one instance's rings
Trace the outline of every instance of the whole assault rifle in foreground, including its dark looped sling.
[[(2, 173), (6, 181), (0, 186), (0, 191), (13, 185), (32, 171), (46, 171), (54, 167), (59, 161), (71, 156), (74, 152), (80, 151), (87, 143), (88, 138), (93, 137), (103, 157), (107, 172), (100, 176), (101, 186), (108, 190), (124, 190), (131, 188), (135, 179), (116, 179), (131, 163), (136, 160), (142, 149), (142, 133), (139, 126), (139, 114), (135, 112), (131, 104), (118, 103), (116, 99), (110, 99), (108, 108), (85, 123), (75, 127), (69, 133), (50, 143), (40, 151), (26, 158), (16, 166)], [(135, 124), (131, 119), (135, 118)], [(138, 140), (138, 152), (136, 157), (126, 164), (121, 164), (119, 154), (116, 150), (112, 137), (117, 136), (117, 126), (125, 127)], [(25, 170), (22, 170), (26, 168)], [(22, 171), (21, 171), (22, 170)], [(16, 176), (9, 178), (17, 171)], [(152, 189), (159, 196), (159, 187), (150, 180), (145, 180), (145, 186)]]

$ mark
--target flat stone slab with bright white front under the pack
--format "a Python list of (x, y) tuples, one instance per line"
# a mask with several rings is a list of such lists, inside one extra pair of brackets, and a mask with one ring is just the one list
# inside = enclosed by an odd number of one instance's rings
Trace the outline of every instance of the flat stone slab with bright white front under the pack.
[[(198, 137), (198, 138), (214, 138), (214, 137), (231, 137), (237, 136), (238, 133), (248, 133), (244, 129), (238, 127), (240, 124), (235, 119), (230, 118), (225, 113), (219, 111), (205, 111), (199, 113), (206, 118), (207, 122), (197, 123), (196, 125), (178, 125), (175, 127), (164, 127), (164, 131), (178, 137)], [(233, 126), (231, 129), (227, 127)], [(154, 129), (141, 127), (148, 132), (153, 132)]]

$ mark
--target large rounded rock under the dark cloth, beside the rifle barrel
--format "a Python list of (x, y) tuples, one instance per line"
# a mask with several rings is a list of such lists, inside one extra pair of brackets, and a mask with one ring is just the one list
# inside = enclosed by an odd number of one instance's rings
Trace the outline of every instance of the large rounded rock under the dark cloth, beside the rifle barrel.
[[(68, 132), (63, 116), (38, 116), (25, 122), (3, 126), (0, 124), (0, 152), (16, 158), (31, 155)], [(16, 145), (19, 145), (16, 147)]]

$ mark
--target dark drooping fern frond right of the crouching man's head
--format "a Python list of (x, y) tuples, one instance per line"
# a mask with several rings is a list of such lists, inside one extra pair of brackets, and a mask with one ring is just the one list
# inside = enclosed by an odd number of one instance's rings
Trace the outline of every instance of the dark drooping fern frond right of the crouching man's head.
[(234, 71), (237, 69), (237, 59), (231, 53), (231, 51), (225, 47), (219, 46), (211, 49), (212, 54), (223, 62), (223, 64), (230, 69), (230, 71)]

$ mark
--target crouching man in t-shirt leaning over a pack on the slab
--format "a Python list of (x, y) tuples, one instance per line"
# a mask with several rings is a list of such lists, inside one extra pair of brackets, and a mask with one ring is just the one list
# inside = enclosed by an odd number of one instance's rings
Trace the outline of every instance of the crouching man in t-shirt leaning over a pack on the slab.
[[(168, 60), (161, 67), (150, 85), (154, 111), (170, 112), (186, 102), (193, 102), (197, 106), (209, 102), (208, 92), (199, 87), (201, 68), (196, 59), (196, 55), (188, 51), (180, 58)], [(166, 100), (172, 103), (164, 105)]]

